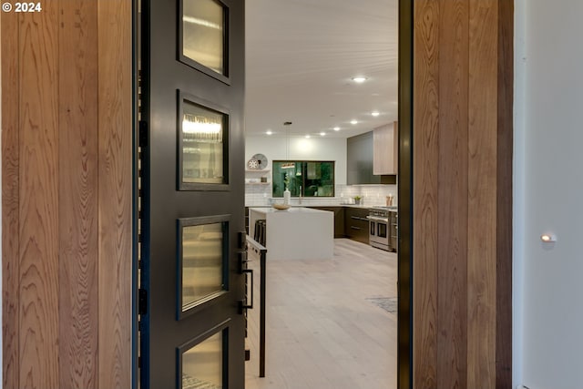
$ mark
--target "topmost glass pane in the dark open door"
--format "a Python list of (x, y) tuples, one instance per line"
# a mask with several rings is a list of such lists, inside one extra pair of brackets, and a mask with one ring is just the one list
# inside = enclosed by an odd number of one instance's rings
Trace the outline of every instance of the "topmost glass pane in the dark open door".
[(224, 75), (224, 8), (215, 0), (183, 0), (182, 53)]

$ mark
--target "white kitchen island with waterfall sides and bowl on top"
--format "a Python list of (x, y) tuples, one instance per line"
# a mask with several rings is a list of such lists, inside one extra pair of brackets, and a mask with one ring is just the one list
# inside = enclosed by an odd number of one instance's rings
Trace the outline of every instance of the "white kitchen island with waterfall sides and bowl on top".
[(328, 210), (292, 207), (249, 209), (249, 233), (256, 220), (266, 221), (267, 259), (330, 260), (334, 251), (334, 218)]

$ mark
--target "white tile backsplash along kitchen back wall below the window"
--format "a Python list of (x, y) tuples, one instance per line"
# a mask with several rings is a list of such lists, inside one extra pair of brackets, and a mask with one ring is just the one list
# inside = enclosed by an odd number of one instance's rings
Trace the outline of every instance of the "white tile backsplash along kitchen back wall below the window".
[[(393, 205), (397, 205), (396, 185), (336, 185), (335, 197), (310, 197), (302, 198), (302, 205), (339, 205), (350, 202), (354, 196), (361, 196), (361, 204), (365, 206), (378, 206), (386, 204), (386, 197), (394, 196)], [(275, 198), (281, 200), (281, 198)], [(270, 205), (271, 185), (245, 184), (245, 205), (248, 207)], [(292, 204), (299, 204), (297, 197), (292, 198)]]

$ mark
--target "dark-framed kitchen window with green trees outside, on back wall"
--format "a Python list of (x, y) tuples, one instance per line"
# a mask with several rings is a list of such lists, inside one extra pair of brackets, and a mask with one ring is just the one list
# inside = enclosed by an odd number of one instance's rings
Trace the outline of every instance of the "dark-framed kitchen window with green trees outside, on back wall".
[(334, 197), (334, 161), (274, 160), (272, 196)]

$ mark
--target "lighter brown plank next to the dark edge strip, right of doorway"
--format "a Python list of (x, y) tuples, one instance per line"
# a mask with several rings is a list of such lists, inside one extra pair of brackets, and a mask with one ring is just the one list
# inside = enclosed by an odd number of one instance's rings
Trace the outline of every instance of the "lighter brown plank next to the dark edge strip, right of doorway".
[(496, 384), (497, 0), (470, 0), (468, 387)]

